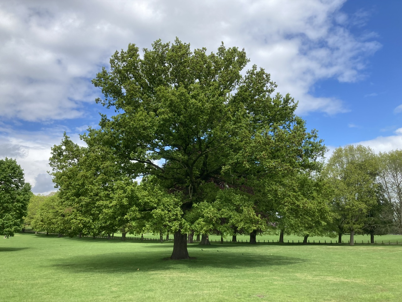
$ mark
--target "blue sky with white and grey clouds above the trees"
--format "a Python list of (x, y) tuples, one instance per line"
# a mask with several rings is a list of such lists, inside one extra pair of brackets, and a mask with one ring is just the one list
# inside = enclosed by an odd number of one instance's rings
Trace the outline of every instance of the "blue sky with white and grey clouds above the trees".
[(105, 112), (94, 102), (96, 72), (128, 43), (176, 36), (209, 52), (221, 41), (245, 48), (330, 152), (401, 149), (401, 12), (397, 0), (4, 0), (0, 158), (17, 159), (33, 192), (54, 190), (51, 146), (64, 131), (80, 143)]

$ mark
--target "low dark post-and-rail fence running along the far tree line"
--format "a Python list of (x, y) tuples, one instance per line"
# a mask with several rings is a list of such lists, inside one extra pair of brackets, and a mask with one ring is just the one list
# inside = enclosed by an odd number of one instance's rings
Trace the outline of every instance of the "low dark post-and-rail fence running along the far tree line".
[[(59, 235), (58, 233), (50, 233), (50, 232), (37, 232), (34, 230), (25, 230), (23, 232), (27, 232), (27, 233), (35, 233), (35, 234), (49, 234), (49, 235)], [(78, 237), (79, 235), (76, 235), (74, 237)], [(82, 237), (88, 237), (88, 238), (93, 238), (94, 236), (90, 236), (90, 235), (82, 235)], [(105, 238), (108, 239), (108, 236), (95, 236), (95, 238)], [(147, 237), (133, 237), (133, 236), (126, 236), (126, 239), (131, 239), (131, 240), (154, 240), (154, 241), (160, 241), (160, 238), (147, 238)], [(110, 236), (110, 239), (121, 239), (121, 236)], [(171, 241), (172, 239), (163, 239), (163, 241)], [(197, 241), (197, 240), (193, 240), (193, 241)], [(336, 240), (334, 240), (332, 242), (332, 240), (328, 240), (328, 242), (326, 242), (326, 240), (324, 240), (324, 242), (321, 242), (322, 240), (318, 240), (318, 242), (315, 242), (315, 240), (313, 240), (313, 242), (310, 242), (310, 240), (308, 240), (308, 244), (349, 244), (349, 240), (347, 242), (342, 241), (342, 243), (338, 243)], [(387, 240), (386, 240), (387, 241)], [(214, 240), (209, 240), (209, 242), (221, 242), (221, 240), (219, 239), (214, 239)], [(224, 241), (225, 242), (225, 241)], [(232, 242), (232, 240), (227, 240), (226, 242)], [(249, 241), (246, 239), (245, 241), (243, 241), (243, 239), (241, 240), (237, 240), (235, 242), (232, 243), (249, 243)], [(258, 240), (257, 243), (273, 243), (273, 244), (278, 244), (279, 240), (263, 240), (262, 242), (260, 242), (260, 240)], [(303, 241), (300, 242), (300, 240), (297, 240), (297, 242), (295, 242), (294, 240), (292, 240), (292, 242), (289, 242), (289, 240), (287, 240), (287, 242), (283, 242), (286, 244), (303, 244)], [(384, 242), (384, 240), (381, 240), (381, 242), (377, 242), (375, 241), (374, 243), (370, 243), (369, 240), (367, 240), (367, 243), (364, 242), (364, 240), (360, 241), (355, 240), (355, 244), (401, 244), (401, 242), (398, 242), (398, 240), (396, 240), (396, 242), (391, 242), (391, 240), (388, 240), (388, 242)]]

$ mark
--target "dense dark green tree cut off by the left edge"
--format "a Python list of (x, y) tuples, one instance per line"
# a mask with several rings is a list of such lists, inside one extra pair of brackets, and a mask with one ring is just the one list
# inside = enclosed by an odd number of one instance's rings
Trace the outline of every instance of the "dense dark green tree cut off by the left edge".
[(15, 159), (0, 159), (0, 235), (14, 236), (27, 215), (32, 192), (23, 171)]

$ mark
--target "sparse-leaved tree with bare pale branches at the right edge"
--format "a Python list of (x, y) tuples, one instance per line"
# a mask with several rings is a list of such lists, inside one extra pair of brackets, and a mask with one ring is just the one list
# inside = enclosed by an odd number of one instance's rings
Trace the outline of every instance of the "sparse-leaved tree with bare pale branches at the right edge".
[(380, 153), (379, 182), (392, 208), (395, 230), (402, 234), (402, 150)]

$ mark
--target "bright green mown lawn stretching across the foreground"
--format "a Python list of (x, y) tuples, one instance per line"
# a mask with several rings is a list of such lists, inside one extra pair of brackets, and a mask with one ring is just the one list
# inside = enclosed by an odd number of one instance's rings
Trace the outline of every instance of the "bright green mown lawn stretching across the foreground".
[(402, 244), (189, 244), (170, 261), (171, 241), (0, 240), (0, 301), (402, 301)]

